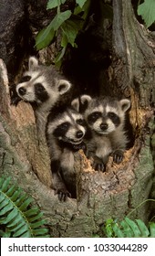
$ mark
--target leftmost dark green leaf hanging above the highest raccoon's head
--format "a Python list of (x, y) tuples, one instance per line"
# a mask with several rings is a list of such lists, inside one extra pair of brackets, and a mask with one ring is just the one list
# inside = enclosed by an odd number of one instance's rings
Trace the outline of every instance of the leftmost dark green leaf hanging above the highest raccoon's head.
[(50, 25), (46, 28), (42, 29), (36, 35), (36, 49), (47, 48), (47, 46), (52, 42), (53, 38), (55, 37), (56, 32)]

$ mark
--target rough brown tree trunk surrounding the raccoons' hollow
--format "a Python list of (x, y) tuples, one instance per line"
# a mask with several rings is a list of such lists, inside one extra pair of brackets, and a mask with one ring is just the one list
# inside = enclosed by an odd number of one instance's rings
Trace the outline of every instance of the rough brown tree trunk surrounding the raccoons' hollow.
[[(120, 165), (109, 158), (105, 173), (95, 172), (83, 152), (76, 154), (77, 199), (59, 202), (50, 188), (47, 145), (38, 144), (31, 106), (24, 102), (10, 106), (5, 64), (0, 62), (0, 173), (12, 176), (13, 182), (35, 198), (52, 237), (91, 237), (106, 219), (122, 219), (150, 197), (155, 43), (150, 31), (136, 20), (130, 1), (113, 0), (113, 10), (114, 51), (109, 71), (116, 86), (111, 90), (131, 98), (135, 142)], [(135, 209), (132, 217), (148, 221), (150, 203)]]

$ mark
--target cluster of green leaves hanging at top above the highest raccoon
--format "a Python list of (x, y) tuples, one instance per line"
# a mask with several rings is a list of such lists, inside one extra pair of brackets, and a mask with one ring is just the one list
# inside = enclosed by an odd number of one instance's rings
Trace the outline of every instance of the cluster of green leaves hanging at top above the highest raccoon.
[[(48, 0), (47, 10), (57, 9), (57, 15), (52, 19), (50, 24), (42, 29), (36, 35), (36, 49), (46, 48), (51, 44), (56, 36), (57, 31), (61, 33), (61, 52), (58, 53), (55, 63), (61, 64), (61, 60), (66, 52), (67, 45), (77, 48), (76, 38), (79, 31), (84, 27), (88, 17), (88, 11), (91, 0), (75, 0), (75, 8), (73, 12), (70, 10), (61, 12), (60, 7), (64, 5), (66, 0)], [(112, 7), (104, 4), (103, 16), (111, 18)]]

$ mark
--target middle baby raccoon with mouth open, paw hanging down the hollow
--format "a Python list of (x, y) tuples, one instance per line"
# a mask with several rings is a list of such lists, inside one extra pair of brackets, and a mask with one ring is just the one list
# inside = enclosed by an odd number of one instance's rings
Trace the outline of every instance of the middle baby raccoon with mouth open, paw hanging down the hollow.
[(85, 149), (85, 121), (71, 107), (50, 112), (47, 118), (47, 144), (51, 158), (53, 188), (60, 200), (76, 197), (74, 152)]

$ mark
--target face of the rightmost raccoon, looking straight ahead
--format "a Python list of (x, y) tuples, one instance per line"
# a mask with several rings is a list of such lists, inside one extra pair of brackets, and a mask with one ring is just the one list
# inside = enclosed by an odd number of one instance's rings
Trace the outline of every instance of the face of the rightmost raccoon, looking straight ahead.
[(89, 101), (86, 119), (89, 128), (98, 134), (109, 134), (124, 124), (125, 112), (129, 109), (130, 101), (111, 101), (98, 99)]

